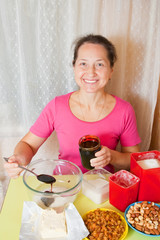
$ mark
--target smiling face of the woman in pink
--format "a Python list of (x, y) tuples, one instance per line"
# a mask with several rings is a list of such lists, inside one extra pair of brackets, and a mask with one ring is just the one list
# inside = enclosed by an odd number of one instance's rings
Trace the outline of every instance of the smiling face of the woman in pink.
[(92, 93), (104, 89), (112, 72), (106, 49), (102, 45), (85, 43), (79, 48), (74, 74), (81, 89)]

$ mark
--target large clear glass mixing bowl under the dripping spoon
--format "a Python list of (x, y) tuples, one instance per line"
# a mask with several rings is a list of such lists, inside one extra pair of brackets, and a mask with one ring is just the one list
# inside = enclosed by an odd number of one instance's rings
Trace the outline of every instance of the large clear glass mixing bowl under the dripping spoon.
[[(36, 160), (28, 165), (36, 174), (55, 177), (56, 182), (47, 184), (38, 181), (32, 173), (25, 171), (23, 182), (27, 187), (30, 201), (42, 208), (63, 211), (68, 203), (74, 202), (82, 184), (82, 172), (78, 166), (66, 160)], [(51, 192), (52, 191), (52, 192)]]

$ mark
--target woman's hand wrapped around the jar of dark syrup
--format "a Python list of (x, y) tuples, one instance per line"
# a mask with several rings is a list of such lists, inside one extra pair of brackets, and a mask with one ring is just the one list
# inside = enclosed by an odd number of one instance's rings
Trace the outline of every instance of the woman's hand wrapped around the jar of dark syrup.
[(102, 146), (101, 150), (95, 153), (96, 158), (90, 160), (91, 166), (103, 168), (111, 161), (111, 151), (109, 148)]

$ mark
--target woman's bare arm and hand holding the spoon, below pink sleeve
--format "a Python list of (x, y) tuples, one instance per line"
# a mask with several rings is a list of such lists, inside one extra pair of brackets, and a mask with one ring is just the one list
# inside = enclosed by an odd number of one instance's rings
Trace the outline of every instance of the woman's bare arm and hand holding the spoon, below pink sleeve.
[(18, 164), (26, 166), (30, 163), (32, 157), (36, 154), (39, 147), (46, 141), (46, 138), (40, 138), (31, 132), (28, 132), (16, 145), (14, 154), (9, 158), (8, 163), (4, 167), (8, 175), (16, 178), (21, 173)]

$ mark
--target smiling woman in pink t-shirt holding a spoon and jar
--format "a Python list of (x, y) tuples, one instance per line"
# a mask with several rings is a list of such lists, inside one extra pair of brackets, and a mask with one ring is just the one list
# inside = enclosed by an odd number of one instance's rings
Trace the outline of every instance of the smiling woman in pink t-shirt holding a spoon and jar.
[[(100, 138), (102, 148), (91, 159), (95, 168), (129, 169), (130, 154), (138, 152), (140, 137), (131, 105), (105, 91), (116, 61), (111, 42), (100, 35), (78, 39), (73, 58), (75, 81), (79, 90), (55, 97), (47, 104), (30, 131), (17, 144), (5, 168), (16, 178), (40, 146), (55, 130), (59, 140), (59, 158), (74, 162), (83, 172), (78, 141), (83, 135)], [(116, 151), (118, 142), (121, 152)]]

